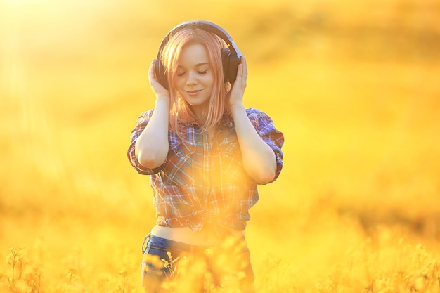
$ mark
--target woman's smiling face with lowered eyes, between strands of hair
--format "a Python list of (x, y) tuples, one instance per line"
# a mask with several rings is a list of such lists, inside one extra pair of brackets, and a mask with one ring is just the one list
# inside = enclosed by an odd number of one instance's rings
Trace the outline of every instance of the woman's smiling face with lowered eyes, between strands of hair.
[(184, 46), (175, 74), (175, 86), (180, 96), (195, 115), (202, 117), (214, 86), (214, 72), (207, 48), (201, 44)]

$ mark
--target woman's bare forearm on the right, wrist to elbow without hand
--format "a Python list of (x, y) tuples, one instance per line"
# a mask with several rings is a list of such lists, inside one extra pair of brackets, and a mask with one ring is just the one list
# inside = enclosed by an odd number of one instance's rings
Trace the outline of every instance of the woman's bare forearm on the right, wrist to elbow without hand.
[(233, 105), (230, 109), (247, 174), (257, 183), (272, 181), (276, 174), (275, 153), (257, 134), (242, 104)]

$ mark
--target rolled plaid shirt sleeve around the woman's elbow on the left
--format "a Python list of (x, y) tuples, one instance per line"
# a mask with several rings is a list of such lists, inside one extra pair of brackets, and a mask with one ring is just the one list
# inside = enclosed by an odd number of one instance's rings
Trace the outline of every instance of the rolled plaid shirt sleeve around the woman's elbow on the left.
[(160, 171), (163, 167), (157, 167), (155, 169), (146, 168), (139, 163), (138, 159), (136, 158), (135, 149), (136, 149), (136, 141), (138, 137), (141, 135), (143, 129), (147, 126), (148, 122), (150, 121), (150, 117), (153, 114), (153, 110), (150, 110), (148, 112), (143, 112), (138, 119), (136, 120), (136, 126), (131, 131), (131, 142), (129, 145), (129, 149), (127, 150), (127, 157), (129, 159), (129, 162), (133, 168), (142, 175), (152, 175)]

